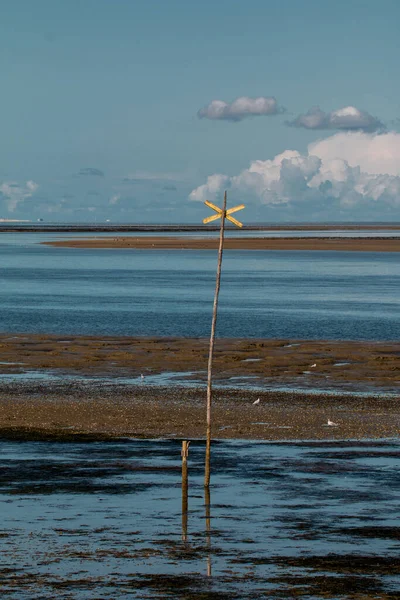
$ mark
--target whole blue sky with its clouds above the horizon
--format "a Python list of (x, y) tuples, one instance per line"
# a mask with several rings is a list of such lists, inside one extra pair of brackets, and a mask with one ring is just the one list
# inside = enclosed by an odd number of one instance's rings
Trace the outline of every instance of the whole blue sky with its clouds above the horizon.
[(398, 0), (0, 12), (0, 219), (400, 221)]

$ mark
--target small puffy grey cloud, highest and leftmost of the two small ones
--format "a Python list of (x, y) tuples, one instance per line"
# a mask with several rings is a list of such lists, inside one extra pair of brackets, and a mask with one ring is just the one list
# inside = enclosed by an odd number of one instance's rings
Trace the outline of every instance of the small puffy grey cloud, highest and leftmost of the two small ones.
[(210, 104), (198, 111), (197, 116), (199, 119), (242, 121), (246, 117), (277, 115), (282, 112), (284, 109), (272, 96), (259, 98), (240, 96), (230, 104), (223, 100), (212, 100)]

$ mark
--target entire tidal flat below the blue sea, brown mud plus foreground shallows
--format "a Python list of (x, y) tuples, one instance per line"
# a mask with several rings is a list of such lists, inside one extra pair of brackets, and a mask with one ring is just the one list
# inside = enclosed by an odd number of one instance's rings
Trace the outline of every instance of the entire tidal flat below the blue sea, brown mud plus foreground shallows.
[(399, 597), (397, 344), (0, 344), (5, 600)]

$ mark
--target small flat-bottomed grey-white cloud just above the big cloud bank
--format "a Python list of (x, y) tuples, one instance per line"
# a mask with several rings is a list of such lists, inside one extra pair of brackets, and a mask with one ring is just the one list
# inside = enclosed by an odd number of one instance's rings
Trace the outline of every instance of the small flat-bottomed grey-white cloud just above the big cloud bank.
[(379, 131), (385, 128), (379, 119), (355, 106), (345, 106), (331, 112), (324, 112), (319, 106), (314, 106), (293, 121), (286, 121), (286, 125), (304, 129), (343, 129), (366, 132)]

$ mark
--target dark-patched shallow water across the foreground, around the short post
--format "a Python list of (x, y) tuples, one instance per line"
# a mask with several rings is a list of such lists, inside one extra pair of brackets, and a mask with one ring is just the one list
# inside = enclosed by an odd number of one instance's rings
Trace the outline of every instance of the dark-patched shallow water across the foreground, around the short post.
[(0, 447), (2, 598), (400, 591), (398, 441), (214, 443), (209, 518), (193, 442), (187, 523), (178, 441)]

